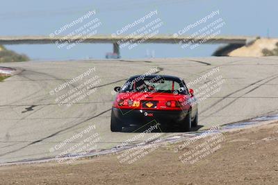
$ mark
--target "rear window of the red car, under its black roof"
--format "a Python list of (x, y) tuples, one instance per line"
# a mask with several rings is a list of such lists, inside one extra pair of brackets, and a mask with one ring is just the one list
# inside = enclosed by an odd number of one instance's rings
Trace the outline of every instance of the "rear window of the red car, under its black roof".
[(132, 79), (126, 82), (123, 92), (154, 91), (172, 93), (181, 89), (181, 85), (176, 80), (164, 79), (161, 77)]

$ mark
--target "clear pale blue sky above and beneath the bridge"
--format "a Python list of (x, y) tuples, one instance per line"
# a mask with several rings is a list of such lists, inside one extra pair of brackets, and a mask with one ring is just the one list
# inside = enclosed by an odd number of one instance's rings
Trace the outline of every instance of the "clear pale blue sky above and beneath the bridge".
[[(96, 10), (95, 15), (68, 28), (59, 36), (76, 32), (77, 28), (96, 18), (101, 22), (101, 26), (95, 28), (95, 33), (111, 35), (155, 10), (157, 15), (133, 26), (124, 34), (138, 31), (149, 22), (160, 19), (163, 25), (156, 29), (158, 33), (172, 35), (210, 15), (211, 12), (219, 10), (219, 15), (188, 30), (186, 34), (193, 34), (221, 18), (224, 26), (219, 28), (219, 35), (278, 37), (278, 24), (275, 24), (277, 9), (278, 1), (275, 0), (9, 0), (1, 2), (0, 36), (49, 35), (93, 10)], [(219, 44), (202, 44), (195, 49), (189, 47), (183, 49), (180, 44), (138, 44), (133, 49), (128, 47), (120, 49), (120, 55), (122, 58), (206, 57), (219, 46)], [(76, 44), (72, 49), (59, 48), (58, 44), (6, 47), (18, 53), (25, 53), (33, 60), (104, 59), (106, 53), (113, 51), (112, 44)]]

